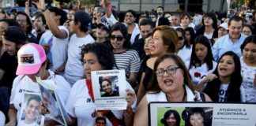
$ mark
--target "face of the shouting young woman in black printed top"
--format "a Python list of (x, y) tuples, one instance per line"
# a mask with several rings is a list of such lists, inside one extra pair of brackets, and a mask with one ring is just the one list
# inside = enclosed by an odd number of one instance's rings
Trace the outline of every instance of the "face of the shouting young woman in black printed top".
[(235, 72), (235, 61), (232, 56), (225, 55), (219, 61), (218, 73), (222, 77), (231, 76)]

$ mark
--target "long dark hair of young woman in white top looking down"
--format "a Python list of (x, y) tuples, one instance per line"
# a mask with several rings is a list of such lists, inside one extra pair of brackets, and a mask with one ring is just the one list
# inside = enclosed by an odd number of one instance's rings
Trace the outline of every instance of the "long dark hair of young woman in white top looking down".
[(198, 59), (198, 57), (195, 54), (195, 46), (200, 43), (207, 48), (207, 54), (205, 57), (205, 63), (208, 67), (208, 70), (213, 69), (213, 53), (212, 53), (212, 48), (209, 43), (209, 40), (205, 37), (205, 35), (199, 35), (196, 39), (194, 39), (194, 45), (192, 46), (192, 53), (191, 53), (191, 58), (190, 58), (190, 67), (191, 69), (193, 66), (197, 67), (196, 64), (199, 64), (201, 66), (201, 61)]

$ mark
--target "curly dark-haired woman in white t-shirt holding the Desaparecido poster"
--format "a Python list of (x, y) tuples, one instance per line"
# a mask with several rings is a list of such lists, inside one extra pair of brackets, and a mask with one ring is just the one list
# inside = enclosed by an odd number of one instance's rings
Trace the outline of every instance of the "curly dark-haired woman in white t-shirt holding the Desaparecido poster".
[[(115, 65), (115, 57), (112, 51), (104, 43), (88, 44), (81, 47), (81, 57), (84, 61), (86, 79), (78, 80), (73, 84), (70, 96), (66, 102), (66, 111), (72, 118), (68, 124), (77, 121), (78, 126), (95, 125), (96, 117), (106, 117), (107, 126), (118, 125), (124, 120), (125, 125), (132, 125), (133, 110), (136, 105), (136, 95), (130, 83), (126, 82), (126, 101), (128, 103), (126, 113), (123, 110), (96, 111), (94, 95), (92, 92), (92, 71), (112, 69)], [(114, 121), (117, 120), (117, 121)]]

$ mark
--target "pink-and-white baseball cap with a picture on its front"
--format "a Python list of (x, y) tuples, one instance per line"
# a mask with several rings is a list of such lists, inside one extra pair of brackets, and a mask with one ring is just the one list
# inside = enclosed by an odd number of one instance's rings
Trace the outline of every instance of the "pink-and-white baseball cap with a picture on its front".
[(18, 67), (16, 75), (36, 74), (47, 59), (43, 46), (36, 43), (28, 43), (21, 46), (17, 57)]

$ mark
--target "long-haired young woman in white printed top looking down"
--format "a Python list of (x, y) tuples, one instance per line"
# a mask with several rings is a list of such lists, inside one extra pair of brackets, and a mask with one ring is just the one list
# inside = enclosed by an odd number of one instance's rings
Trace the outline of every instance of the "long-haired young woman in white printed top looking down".
[(190, 61), (186, 62), (186, 67), (190, 71), (192, 81), (201, 91), (205, 85), (206, 76), (216, 68), (216, 61), (213, 61), (213, 53), (209, 40), (204, 35), (199, 35), (194, 39)]

